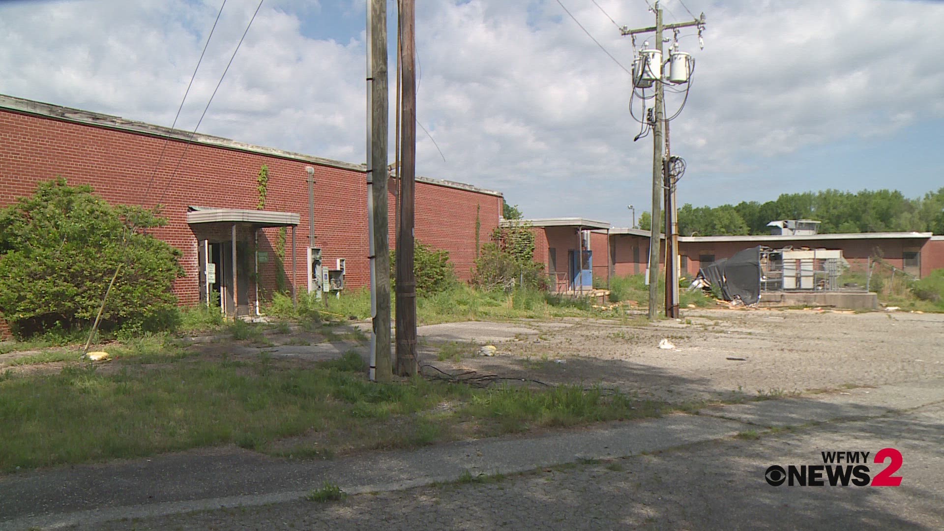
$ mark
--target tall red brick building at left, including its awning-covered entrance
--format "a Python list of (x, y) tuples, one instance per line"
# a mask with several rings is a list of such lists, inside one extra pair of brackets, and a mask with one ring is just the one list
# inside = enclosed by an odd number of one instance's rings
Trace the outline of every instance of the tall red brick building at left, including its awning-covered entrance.
[[(268, 180), (258, 209), (262, 166)], [(183, 252), (186, 276), (174, 284), (182, 304), (204, 300), (208, 289), (216, 289), (228, 293), (230, 304), (235, 292), (239, 313), (254, 313), (259, 300), (274, 289), (308, 289), (308, 166), (314, 169), (314, 247), (321, 249), (322, 265), (337, 269), (343, 259), (345, 286), (367, 285), (362, 164), (201, 134), (191, 140), (189, 131), (0, 95), (0, 206), (59, 176), (70, 184), (92, 185), (95, 194), (111, 203), (148, 208), (160, 203), (169, 224), (151, 233)], [(393, 195), (389, 202), (394, 247)], [(501, 209), (498, 192), (420, 177), (415, 235), (449, 251), (456, 273), (467, 280), (476, 234), (487, 238)], [(207, 276), (211, 264), (216, 266), (215, 283), (208, 282), (213, 280)]]

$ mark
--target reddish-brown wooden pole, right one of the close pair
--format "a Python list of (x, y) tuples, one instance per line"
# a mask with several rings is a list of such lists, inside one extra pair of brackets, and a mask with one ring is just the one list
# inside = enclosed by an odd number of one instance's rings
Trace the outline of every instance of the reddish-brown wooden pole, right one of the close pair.
[(416, 178), (415, 6), (399, 1), (400, 172), (399, 232), (396, 234), (396, 374), (413, 376), (416, 359), (416, 277), (413, 274), (413, 221)]

